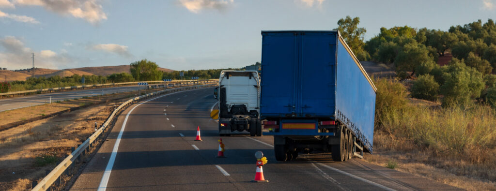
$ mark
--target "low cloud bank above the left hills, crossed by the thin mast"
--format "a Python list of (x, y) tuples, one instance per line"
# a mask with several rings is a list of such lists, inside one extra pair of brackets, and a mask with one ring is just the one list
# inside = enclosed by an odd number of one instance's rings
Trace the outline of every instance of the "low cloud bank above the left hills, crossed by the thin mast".
[(52, 50), (36, 51), (25, 47), (24, 43), (13, 36), (6, 36), (0, 39), (0, 46), (5, 49), (0, 52), (0, 65), (8, 69), (30, 68), (32, 58), (35, 54), (35, 67), (37, 68), (58, 68), (72, 60), (66, 55), (59, 55)]

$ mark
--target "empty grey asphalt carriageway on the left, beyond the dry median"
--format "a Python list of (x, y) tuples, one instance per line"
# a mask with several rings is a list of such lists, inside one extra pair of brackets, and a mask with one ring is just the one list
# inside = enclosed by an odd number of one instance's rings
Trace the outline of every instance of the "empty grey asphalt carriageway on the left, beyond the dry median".
[(0, 99), (0, 111), (6, 111), (11, 109), (18, 109), (23, 107), (30, 107), (34, 105), (41, 105), (50, 102), (50, 97), (52, 97), (52, 102), (63, 101), (66, 99), (78, 99), (86, 96), (98, 96), (102, 94), (114, 94), (120, 92), (131, 92), (136, 91), (139, 88), (144, 89), (144, 86), (122, 86), (122, 87), (112, 87), (112, 88), (99, 88), (99, 89), (87, 89), (87, 90), (75, 90), (67, 92), (55, 92), (55, 93), (44, 93), (33, 96), (20, 96)]

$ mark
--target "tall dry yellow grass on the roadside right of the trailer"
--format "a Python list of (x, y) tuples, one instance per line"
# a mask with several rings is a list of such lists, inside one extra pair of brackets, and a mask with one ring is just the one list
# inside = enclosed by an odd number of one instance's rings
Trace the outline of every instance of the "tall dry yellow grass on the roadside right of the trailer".
[(395, 169), (466, 190), (496, 190), (493, 108), (442, 108), (407, 99), (406, 88), (397, 81), (375, 83), (375, 153), (367, 160), (382, 166), (397, 161)]

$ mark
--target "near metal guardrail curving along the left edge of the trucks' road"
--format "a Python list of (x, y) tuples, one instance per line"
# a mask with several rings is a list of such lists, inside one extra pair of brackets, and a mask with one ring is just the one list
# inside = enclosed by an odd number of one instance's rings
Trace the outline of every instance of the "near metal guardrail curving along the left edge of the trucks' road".
[(50, 187), (59, 179), (62, 174), (67, 172), (67, 169), (74, 163), (76, 160), (80, 160), (81, 154), (84, 154), (86, 152), (89, 152), (89, 148), (92, 146), (93, 142), (95, 140), (102, 139), (104, 137), (104, 132), (107, 130), (109, 125), (112, 123), (113, 120), (117, 119), (116, 117), (118, 116), (118, 113), (121, 112), (122, 110), (126, 109), (129, 105), (133, 104), (136, 101), (140, 101), (143, 99), (147, 99), (153, 96), (158, 96), (162, 94), (167, 94), (167, 93), (172, 93), (172, 92), (179, 92), (179, 91), (184, 91), (184, 90), (191, 90), (191, 89), (198, 89), (198, 88), (204, 88), (204, 87), (211, 87), (213, 85), (216, 85), (219, 80), (209, 80), (205, 85), (196, 85), (196, 86), (187, 86), (187, 87), (181, 87), (181, 88), (174, 88), (174, 89), (168, 89), (168, 90), (162, 90), (159, 92), (154, 92), (150, 93), (144, 96), (138, 96), (132, 99), (129, 99), (125, 101), (123, 104), (121, 104), (119, 107), (117, 107), (114, 112), (107, 118), (104, 124), (95, 132), (93, 135), (91, 135), (86, 141), (84, 141), (81, 145), (77, 146), (71, 154), (69, 154), (67, 157), (65, 157), (64, 160), (60, 164), (58, 164), (43, 180), (41, 180), (36, 186), (33, 184), (33, 191), (46, 191), (50, 189)]

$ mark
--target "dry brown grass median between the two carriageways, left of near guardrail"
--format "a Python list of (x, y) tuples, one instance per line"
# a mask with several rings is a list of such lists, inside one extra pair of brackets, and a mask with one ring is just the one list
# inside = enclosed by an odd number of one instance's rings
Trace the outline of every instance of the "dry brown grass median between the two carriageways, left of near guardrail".
[[(158, 90), (148, 90), (156, 92)], [(135, 92), (89, 97), (1, 112), (0, 122), (16, 121), (21, 117), (36, 116), (39, 112), (52, 113), (120, 97), (120, 100), (91, 105), (55, 117), (37, 120), (0, 133), (0, 190), (26, 190), (32, 180), (40, 180), (55, 164), (36, 165), (36, 157), (50, 155), (62, 160), (70, 148), (82, 143), (94, 132), (94, 122), (102, 124), (129, 95)], [(4, 115), (8, 113), (8, 115)], [(70, 177), (69, 177), (70, 178)]]

